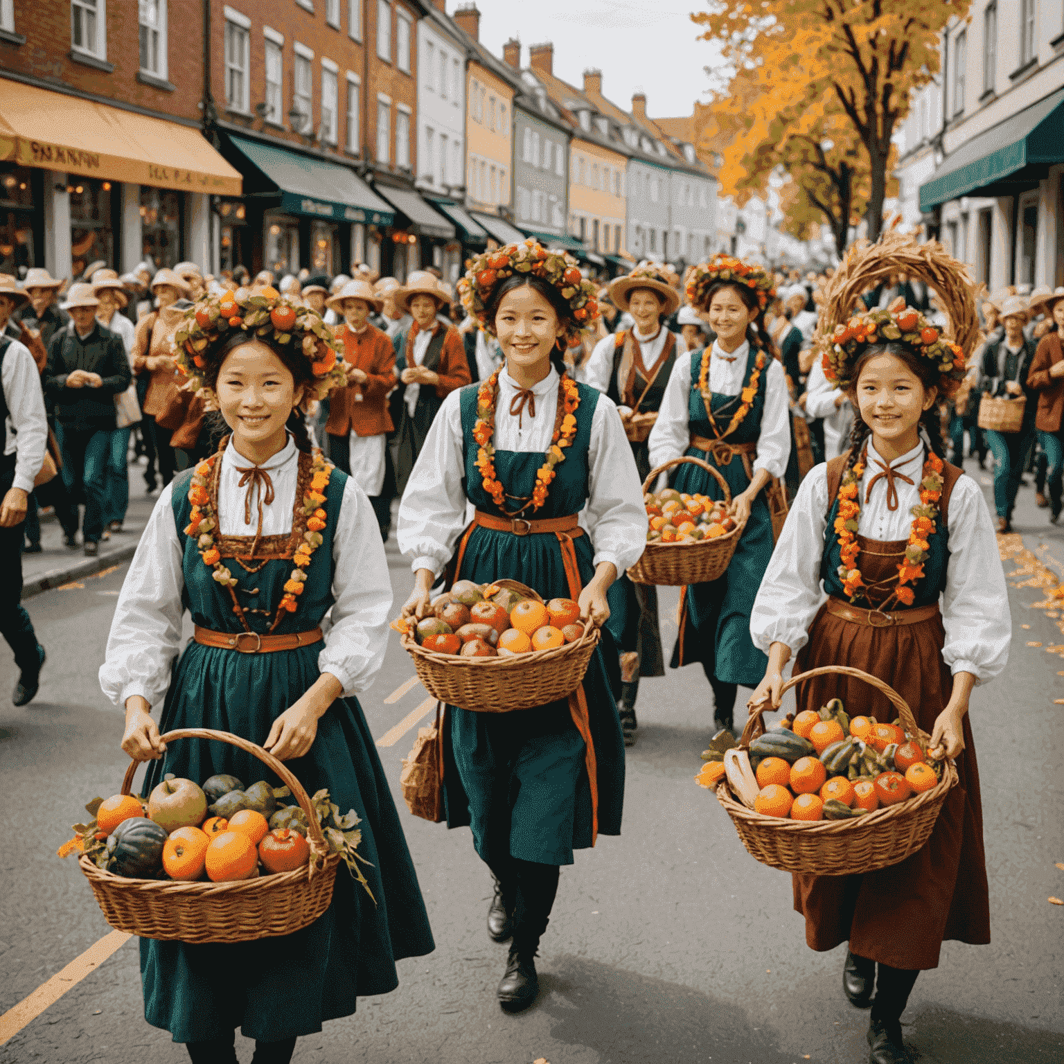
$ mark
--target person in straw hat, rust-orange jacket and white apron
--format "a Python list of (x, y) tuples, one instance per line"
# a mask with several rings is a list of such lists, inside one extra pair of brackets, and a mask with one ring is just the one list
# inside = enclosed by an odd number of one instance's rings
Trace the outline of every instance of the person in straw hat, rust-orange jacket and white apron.
[(387, 467), (387, 433), (392, 432), (388, 393), (396, 386), (396, 353), (392, 340), (369, 323), (382, 300), (366, 281), (348, 281), (328, 301), (344, 318), (336, 338), (344, 345), (347, 382), (329, 399), (329, 456), (349, 473), (373, 505), (381, 537), (392, 523), (390, 499), (383, 499)]

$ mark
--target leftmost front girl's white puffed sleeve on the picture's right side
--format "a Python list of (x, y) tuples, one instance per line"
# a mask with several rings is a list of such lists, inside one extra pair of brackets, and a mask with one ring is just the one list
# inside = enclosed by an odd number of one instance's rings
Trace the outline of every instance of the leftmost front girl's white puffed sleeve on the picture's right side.
[(344, 685), (345, 697), (366, 691), (384, 663), (392, 581), (377, 517), (348, 477), (333, 532), (332, 624), (318, 668)]

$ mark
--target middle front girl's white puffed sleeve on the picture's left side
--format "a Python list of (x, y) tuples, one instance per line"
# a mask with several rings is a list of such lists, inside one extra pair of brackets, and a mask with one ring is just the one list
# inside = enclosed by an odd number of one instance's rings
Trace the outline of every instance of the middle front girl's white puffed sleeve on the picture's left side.
[(439, 408), (399, 503), (396, 538), (415, 572), (438, 576), (466, 526), (461, 395), (452, 392)]

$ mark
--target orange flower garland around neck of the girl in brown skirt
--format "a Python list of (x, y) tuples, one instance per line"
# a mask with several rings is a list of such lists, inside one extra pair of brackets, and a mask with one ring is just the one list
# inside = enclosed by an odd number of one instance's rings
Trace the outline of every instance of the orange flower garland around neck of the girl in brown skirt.
[[(838, 537), (842, 565), (838, 566), (838, 579), (843, 582), (843, 591), (851, 602), (861, 594), (862, 587), (867, 587), (858, 568), (858, 554), (861, 548), (857, 543), (858, 521), (861, 516), (861, 478), (864, 476), (868, 461), (867, 447), (861, 456), (846, 470), (843, 482), (838, 486), (838, 516), (835, 518), (835, 532)], [(915, 597), (913, 588), (924, 578), (924, 563), (927, 561), (931, 545), (928, 536), (935, 531), (935, 519), (938, 516), (938, 502), (942, 499), (943, 461), (934, 451), (929, 450), (924, 470), (920, 476), (920, 504), (912, 508), (913, 523), (905, 543), (905, 559), (898, 565), (898, 586), (894, 594), (878, 609), (882, 610), (892, 599), (897, 599), (902, 605), (912, 605)]]

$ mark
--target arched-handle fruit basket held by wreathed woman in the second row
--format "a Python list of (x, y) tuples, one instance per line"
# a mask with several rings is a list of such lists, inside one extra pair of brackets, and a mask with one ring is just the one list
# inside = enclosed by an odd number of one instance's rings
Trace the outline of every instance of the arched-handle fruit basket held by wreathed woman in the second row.
[[(653, 482), (674, 466), (689, 462), (717, 480), (722, 500), (687, 495), (667, 487), (650, 493)], [(743, 525), (731, 512), (731, 489), (720, 473), (701, 459), (679, 458), (651, 469), (643, 482), (649, 528), (642, 558), (628, 570), (637, 584), (681, 586), (716, 580), (735, 553)]]

